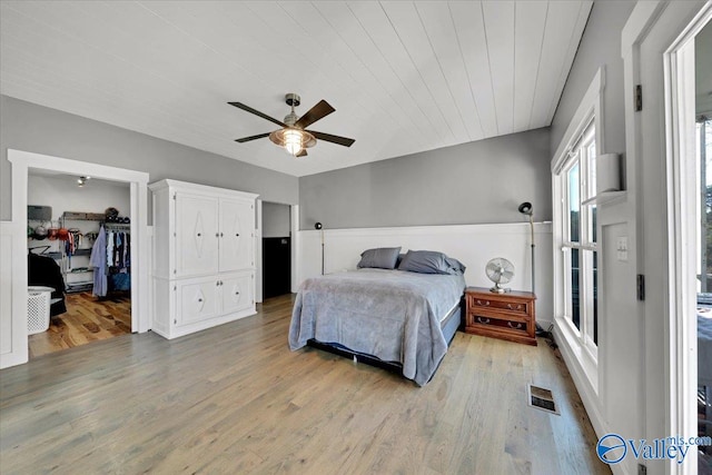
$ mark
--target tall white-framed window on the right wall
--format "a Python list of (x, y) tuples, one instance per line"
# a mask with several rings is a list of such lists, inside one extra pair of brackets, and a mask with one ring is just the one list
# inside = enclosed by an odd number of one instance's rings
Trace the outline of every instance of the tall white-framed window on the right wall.
[(596, 355), (599, 342), (599, 255), (596, 245), (596, 145), (593, 120), (574, 142), (555, 179), (561, 180), (561, 269), (564, 315), (580, 344)]

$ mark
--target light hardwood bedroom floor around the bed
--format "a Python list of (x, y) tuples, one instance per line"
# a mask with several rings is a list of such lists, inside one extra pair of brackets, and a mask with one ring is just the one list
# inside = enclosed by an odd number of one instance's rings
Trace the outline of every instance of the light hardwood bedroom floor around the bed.
[[(0, 464), (27, 473), (610, 473), (561, 359), (457, 333), (433, 380), (289, 352), (293, 297), (171, 342), (125, 335), (0, 372)], [(526, 405), (554, 392), (561, 416)]]

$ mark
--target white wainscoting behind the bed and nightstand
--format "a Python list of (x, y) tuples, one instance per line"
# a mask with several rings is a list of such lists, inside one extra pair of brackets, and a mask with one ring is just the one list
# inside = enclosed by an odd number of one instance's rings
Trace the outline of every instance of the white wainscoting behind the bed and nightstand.
[[(536, 240), (536, 320), (546, 328), (553, 320), (552, 225), (534, 225)], [(469, 286), (491, 287), (485, 265), (493, 257), (514, 264), (515, 274), (507, 285), (516, 290), (532, 289), (532, 250), (528, 222), (502, 225), (414, 226), (399, 228), (324, 229), (324, 271), (355, 269), (360, 253), (374, 247), (400, 246), (408, 249), (439, 250), (459, 259), (467, 270)], [(298, 232), (299, 275), (301, 283), (322, 274), (322, 232)]]

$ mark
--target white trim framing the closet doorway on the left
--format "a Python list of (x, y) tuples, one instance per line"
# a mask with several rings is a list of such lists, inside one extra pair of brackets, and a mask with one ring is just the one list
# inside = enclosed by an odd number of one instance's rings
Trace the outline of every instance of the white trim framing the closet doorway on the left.
[[(20, 232), (27, 226), (28, 176), (31, 168), (70, 175), (88, 175), (105, 180), (129, 184), (132, 235), (131, 256), (134, 256), (131, 266), (131, 331), (148, 331), (150, 329), (150, 315), (148, 313), (148, 174), (12, 149), (8, 149), (8, 160), (12, 164), (12, 222), (14, 224), (13, 229), (16, 229), (16, 232)], [(27, 283), (26, 255), (27, 244), (23, 258), (18, 259), (18, 274), (12, 276), (12, 364), (27, 363), (29, 359), (26, 317), (27, 285), (20, 285)]]

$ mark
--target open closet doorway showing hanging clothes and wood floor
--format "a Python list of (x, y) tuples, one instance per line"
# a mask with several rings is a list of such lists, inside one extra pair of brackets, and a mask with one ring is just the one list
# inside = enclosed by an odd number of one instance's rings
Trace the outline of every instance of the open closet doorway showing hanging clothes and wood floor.
[(30, 359), (131, 333), (130, 202), (127, 182), (28, 170), (28, 284), (53, 289)]

